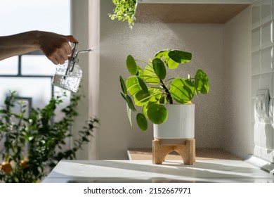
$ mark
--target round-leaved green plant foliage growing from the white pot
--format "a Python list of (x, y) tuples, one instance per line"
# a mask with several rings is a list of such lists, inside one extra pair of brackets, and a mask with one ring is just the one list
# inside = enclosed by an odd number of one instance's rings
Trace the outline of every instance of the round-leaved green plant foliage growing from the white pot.
[[(194, 77), (188, 75), (187, 78), (166, 79), (167, 70), (176, 69), (179, 65), (191, 61), (191, 58), (192, 53), (175, 49), (159, 51), (149, 62), (127, 56), (126, 68), (130, 76), (126, 80), (120, 76), (119, 81), (131, 125), (131, 114), (135, 112), (138, 127), (146, 131), (148, 120), (155, 125), (167, 120), (167, 103), (190, 104), (195, 94), (209, 92), (209, 79), (201, 69), (196, 71)], [(144, 63), (145, 68), (142, 69), (137, 63)], [(136, 110), (136, 107), (141, 110)]]

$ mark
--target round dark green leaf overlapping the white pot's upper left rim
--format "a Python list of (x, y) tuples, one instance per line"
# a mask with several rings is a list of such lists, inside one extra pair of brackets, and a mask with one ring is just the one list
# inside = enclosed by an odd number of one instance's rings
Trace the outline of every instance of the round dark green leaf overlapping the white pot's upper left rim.
[(163, 105), (152, 104), (148, 106), (148, 118), (154, 124), (162, 124), (167, 120), (167, 109)]

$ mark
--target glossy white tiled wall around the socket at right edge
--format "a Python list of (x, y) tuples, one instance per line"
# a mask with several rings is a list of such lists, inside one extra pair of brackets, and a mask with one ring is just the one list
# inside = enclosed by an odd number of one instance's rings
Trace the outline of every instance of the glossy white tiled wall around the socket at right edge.
[[(252, 5), (252, 147), (253, 154), (274, 161), (274, 79), (273, 79), (274, 0)], [(268, 89), (269, 117), (259, 117), (254, 109), (256, 91)]]

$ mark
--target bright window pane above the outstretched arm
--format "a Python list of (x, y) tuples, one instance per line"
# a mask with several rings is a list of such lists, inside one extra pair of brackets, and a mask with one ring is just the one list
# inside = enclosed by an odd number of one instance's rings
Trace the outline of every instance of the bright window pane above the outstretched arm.
[(29, 30), (70, 34), (70, 0), (1, 1), (0, 35)]

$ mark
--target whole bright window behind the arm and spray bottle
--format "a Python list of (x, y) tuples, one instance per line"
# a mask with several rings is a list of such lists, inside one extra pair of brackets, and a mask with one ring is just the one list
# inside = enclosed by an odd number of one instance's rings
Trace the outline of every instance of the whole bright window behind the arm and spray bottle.
[[(0, 35), (30, 30), (70, 34), (70, 0), (2, 1)], [(55, 65), (40, 51), (0, 61), (0, 106), (8, 91), (32, 98), (32, 107), (43, 107), (57, 88), (51, 85)]]

